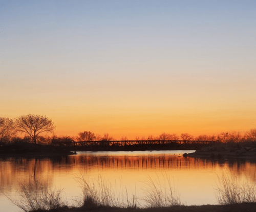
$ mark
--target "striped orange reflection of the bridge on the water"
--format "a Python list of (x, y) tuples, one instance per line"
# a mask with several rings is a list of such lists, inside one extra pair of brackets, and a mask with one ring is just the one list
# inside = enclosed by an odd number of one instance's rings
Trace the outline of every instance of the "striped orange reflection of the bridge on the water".
[[(68, 158), (67, 158), (68, 159)], [(98, 167), (107, 169), (179, 169), (216, 166), (217, 161), (200, 160), (194, 157), (171, 156), (109, 156), (109, 155), (73, 155), (66, 163), (75, 166)]]

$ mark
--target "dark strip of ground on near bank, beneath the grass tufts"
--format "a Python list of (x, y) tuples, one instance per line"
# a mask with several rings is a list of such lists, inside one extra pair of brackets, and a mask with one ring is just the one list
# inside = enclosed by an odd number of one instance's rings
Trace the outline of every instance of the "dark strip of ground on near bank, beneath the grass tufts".
[(98, 206), (92, 207), (68, 207), (64, 206), (58, 209), (52, 210), (36, 210), (34, 212), (254, 212), (256, 210), (256, 203), (241, 203), (241, 204), (229, 204), (229, 205), (190, 205), (190, 206), (171, 206), (171, 207), (158, 207), (158, 208), (119, 208), (119, 207), (108, 207)]

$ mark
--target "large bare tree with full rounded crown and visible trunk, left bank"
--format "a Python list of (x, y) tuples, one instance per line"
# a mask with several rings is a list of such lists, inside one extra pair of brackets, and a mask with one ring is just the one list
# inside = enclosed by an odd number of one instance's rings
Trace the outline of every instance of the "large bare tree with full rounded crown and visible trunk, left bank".
[(51, 119), (41, 115), (26, 115), (15, 119), (17, 130), (28, 134), (34, 143), (37, 143), (37, 137), (41, 133), (53, 132), (55, 126)]

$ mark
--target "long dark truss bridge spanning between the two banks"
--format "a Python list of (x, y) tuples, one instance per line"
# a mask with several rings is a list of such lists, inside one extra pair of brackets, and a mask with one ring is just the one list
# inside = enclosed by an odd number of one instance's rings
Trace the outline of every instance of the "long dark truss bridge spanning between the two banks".
[[(55, 143), (54, 146), (68, 147), (71, 150), (154, 150), (168, 147), (168, 149), (183, 149), (188, 147), (202, 147), (215, 141), (186, 141), (186, 140), (129, 140), (129, 141), (74, 141)], [(166, 149), (167, 150), (167, 149)]]

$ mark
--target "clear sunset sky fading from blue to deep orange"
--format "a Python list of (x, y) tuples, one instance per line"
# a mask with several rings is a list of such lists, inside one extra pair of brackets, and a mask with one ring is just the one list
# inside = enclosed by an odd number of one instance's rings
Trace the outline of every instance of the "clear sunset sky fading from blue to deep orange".
[(115, 139), (256, 128), (256, 1), (0, 0), (0, 117)]

